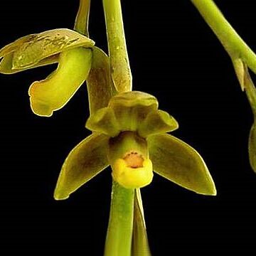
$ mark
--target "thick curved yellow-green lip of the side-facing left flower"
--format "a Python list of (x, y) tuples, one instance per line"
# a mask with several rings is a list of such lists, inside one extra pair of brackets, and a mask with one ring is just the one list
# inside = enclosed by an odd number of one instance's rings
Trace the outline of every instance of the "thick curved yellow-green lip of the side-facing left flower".
[(75, 94), (86, 80), (92, 62), (92, 50), (75, 48), (60, 54), (57, 70), (46, 80), (33, 82), (28, 94), (35, 114), (50, 117)]

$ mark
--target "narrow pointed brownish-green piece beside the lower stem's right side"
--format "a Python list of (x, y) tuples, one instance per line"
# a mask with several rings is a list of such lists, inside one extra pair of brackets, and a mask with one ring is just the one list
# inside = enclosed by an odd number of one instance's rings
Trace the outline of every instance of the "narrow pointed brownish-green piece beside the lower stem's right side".
[(134, 225), (132, 233), (132, 256), (151, 256), (146, 235), (142, 196), (139, 188), (134, 197)]

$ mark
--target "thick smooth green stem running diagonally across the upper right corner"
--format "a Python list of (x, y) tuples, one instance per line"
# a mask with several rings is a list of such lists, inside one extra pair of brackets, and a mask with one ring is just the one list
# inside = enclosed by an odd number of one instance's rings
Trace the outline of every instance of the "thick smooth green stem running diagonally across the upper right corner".
[(191, 2), (196, 6), (196, 9), (198, 9), (201, 16), (203, 16), (206, 23), (208, 23), (223, 44), (230, 58), (233, 60), (236, 58), (242, 59), (246, 65), (256, 73), (255, 53), (247, 46), (242, 38), (240, 38), (214, 2), (212, 0), (191, 0)]

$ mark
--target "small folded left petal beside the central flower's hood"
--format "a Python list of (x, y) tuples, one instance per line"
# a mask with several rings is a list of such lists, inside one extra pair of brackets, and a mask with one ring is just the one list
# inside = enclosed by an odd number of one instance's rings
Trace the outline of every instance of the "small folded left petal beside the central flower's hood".
[(85, 124), (87, 129), (92, 132), (101, 132), (110, 137), (115, 137), (119, 134), (120, 129), (114, 111), (110, 107), (103, 107), (92, 114)]

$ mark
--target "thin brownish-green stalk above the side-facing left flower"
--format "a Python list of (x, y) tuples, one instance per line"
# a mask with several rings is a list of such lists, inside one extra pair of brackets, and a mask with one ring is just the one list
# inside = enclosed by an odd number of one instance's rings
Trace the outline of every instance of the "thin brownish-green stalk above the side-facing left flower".
[(89, 37), (88, 21), (90, 14), (90, 0), (80, 0), (78, 14), (75, 18), (74, 30)]

